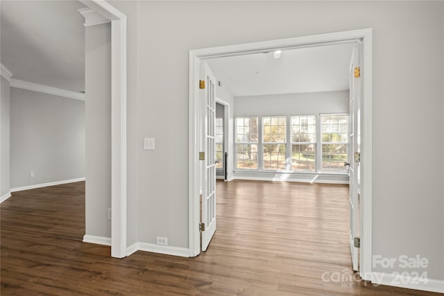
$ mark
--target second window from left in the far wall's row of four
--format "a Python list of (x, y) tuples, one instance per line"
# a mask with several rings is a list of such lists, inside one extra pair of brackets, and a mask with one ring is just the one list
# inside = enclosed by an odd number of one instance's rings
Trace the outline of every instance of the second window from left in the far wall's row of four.
[(262, 117), (264, 170), (286, 170), (287, 116)]

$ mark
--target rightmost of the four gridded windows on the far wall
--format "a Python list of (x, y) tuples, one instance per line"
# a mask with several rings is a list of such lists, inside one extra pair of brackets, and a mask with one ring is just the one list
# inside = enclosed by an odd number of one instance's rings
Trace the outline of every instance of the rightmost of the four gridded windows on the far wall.
[(347, 171), (348, 137), (348, 114), (321, 114), (323, 171)]

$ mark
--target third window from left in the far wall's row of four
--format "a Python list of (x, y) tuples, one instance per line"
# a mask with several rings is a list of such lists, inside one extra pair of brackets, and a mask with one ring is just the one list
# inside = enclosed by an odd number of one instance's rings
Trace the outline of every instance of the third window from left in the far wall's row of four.
[(316, 115), (291, 116), (291, 171), (316, 171)]

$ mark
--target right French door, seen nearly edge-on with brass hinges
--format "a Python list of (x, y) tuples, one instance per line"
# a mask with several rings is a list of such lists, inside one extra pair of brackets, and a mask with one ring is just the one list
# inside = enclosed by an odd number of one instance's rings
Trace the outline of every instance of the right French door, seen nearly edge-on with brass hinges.
[(353, 270), (359, 269), (359, 237), (360, 209), (359, 195), (361, 192), (361, 44), (354, 44), (350, 62), (350, 128), (349, 157), (350, 164), (350, 253)]

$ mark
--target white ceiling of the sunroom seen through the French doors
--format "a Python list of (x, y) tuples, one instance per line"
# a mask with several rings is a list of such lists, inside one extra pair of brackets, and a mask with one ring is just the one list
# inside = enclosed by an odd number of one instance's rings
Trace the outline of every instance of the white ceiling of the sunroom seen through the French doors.
[(352, 44), (290, 49), (207, 60), (234, 96), (329, 92), (349, 89)]

